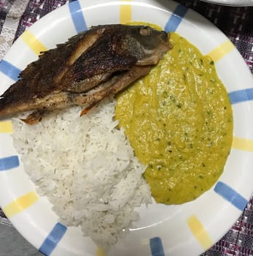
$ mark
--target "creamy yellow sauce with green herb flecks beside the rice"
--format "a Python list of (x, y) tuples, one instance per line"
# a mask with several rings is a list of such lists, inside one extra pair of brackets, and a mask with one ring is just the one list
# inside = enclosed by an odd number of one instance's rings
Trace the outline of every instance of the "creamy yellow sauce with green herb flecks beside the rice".
[(115, 118), (147, 169), (157, 203), (180, 204), (210, 189), (225, 166), (233, 113), (214, 61), (171, 33), (173, 49), (117, 96)]

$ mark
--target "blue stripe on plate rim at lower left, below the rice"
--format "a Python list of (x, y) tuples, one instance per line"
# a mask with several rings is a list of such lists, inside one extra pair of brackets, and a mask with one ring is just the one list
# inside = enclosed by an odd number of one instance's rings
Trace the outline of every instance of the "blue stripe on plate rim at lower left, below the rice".
[(39, 252), (49, 256), (55, 249), (61, 238), (66, 233), (67, 227), (62, 225), (60, 222), (55, 224), (52, 231), (49, 233), (47, 238), (44, 240), (42, 246), (39, 247)]

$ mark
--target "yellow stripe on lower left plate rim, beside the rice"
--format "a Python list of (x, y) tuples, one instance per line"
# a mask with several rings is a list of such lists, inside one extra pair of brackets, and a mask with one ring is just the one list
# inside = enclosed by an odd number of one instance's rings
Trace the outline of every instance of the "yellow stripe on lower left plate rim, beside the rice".
[(26, 195), (18, 197), (12, 203), (9, 203), (3, 208), (4, 214), (9, 218), (15, 214), (19, 214), (21, 211), (32, 206), (39, 199), (36, 192), (29, 192)]

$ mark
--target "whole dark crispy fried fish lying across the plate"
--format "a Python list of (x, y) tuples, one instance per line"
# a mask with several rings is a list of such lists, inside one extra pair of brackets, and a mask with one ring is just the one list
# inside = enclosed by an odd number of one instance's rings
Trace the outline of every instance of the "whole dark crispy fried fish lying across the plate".
[(149, 26), (95, 26), (42, 52), (1, 95), (0, 117), (35, 110), (23, 119), (36, 124), (50, 111), (85, 106), (147, 75), (170, 48), (166, 31)]

